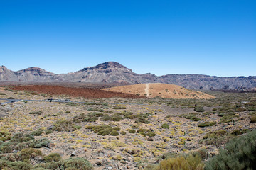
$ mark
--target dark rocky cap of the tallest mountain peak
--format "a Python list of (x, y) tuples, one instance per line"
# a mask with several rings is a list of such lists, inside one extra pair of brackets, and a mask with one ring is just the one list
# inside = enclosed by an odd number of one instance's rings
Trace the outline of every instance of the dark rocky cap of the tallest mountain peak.
[(126, 69), (129, 72), (132, 72), (132, 69), (128, 69), (127, 67), (123, 66), (122, 64), (119, 64), (118, 62), (104, 62), (102, 64), (97, 64), (97, 66), (95, 67), (86, 67), (78, 72), (86, 72), (87, 70), (93, 69)]

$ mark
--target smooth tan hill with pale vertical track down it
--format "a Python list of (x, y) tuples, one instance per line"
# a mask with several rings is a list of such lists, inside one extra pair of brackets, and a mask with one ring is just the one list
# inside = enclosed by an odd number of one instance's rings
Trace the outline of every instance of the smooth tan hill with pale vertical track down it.
[(121, 92), (125, 94), (137, 94), (154, 98), (160, 96), (162, 98), (215, 98), (209, 94), (200, 91), (192, 91), (174, 84), (134, 84), (128, 86), (116, 86), (112, 88), (102, 89), (105, 91)]

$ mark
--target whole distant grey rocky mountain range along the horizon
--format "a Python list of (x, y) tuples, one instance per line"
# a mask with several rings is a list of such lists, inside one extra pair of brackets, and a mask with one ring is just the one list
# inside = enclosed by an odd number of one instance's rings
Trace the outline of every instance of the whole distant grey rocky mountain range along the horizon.
[(136, 74), (132, 69), (118, 62), (105, 62), (95, 67), (86, 67), (78, 72), (54, 74), (38, 67), (11, 71), (0, 67), (0, 81), (18, 82), (92, 82), (92, 83), (164, 83), (176, 84), (187, 89), (235, 89), (247, 90), (256, 87), (256, 76), (252, 77), (211, 77), (202, 74)]

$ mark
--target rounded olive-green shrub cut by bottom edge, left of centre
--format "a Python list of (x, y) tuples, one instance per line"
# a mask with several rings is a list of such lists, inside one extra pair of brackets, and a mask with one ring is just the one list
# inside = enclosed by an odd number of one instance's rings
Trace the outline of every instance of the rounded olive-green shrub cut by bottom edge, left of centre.
[(72, 169), (72, 170), (91, 170), (92, 165), (90, 164), (89, 161), (87, 161), (87, 159), (85, 158), (70, 158), (70, 159), (66, 159), (63, 162), (63, 166), (65, 169)]

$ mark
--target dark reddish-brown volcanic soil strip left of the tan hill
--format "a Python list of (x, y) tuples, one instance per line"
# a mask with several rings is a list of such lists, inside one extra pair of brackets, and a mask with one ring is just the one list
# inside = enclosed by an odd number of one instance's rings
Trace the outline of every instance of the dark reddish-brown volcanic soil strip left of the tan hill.
[(17, 91), (36, 91), (38, 94), (61, 95), (66, 94), (73, 97), (84, 98), (144, 98), (134, 94), (123, 94), (119, 92), (103, 91), (100, 89), (75, 88), (64, 86), (47, 86), (47, 85), (31, 85), (31, 86), (11, 86), (11, 89)]

